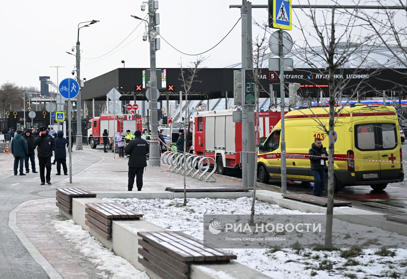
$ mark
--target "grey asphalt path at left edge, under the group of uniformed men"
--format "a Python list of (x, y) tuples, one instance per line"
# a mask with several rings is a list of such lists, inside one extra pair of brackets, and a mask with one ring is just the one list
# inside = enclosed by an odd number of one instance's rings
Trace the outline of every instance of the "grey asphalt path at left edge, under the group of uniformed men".
[[(86, 152), (74, 152), (72, 174), (81, 172), (101, 157)], [(82, 157), (82, 158), (81, 158)], [(38, 160), (35, 158), (37, 171)], [(30, 164), (31, 170), (31, 164)], [(25, 171), (25, 169), (24, 169)], [(66, 179), (55, 176), (56, 166), (52, 166), (51, 182)], [(9, 211), (24, 201), (55, 197), (55, 186), (40, 185), (39, 173), (14, 176), (13, 155), (0, 155), (0, 279), (45, 279), (46, 272), (35, 262), (15, 233), (8, 226)]]

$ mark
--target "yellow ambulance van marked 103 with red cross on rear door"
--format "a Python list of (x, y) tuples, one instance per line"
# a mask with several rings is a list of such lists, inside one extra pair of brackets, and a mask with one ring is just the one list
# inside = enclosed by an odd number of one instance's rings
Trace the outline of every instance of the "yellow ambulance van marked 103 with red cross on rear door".
[[(338, 108), (339, 110), (339, 108)], [(308, 151), (316, 137), (328, 150), (328, 107), (290, 111), (284, 117), (287, 179), (313, 182)], [(335, 116), (335, 192), (346, 186), (370, 185), (383, 190), (404, 179), (398, 119), (394, 107), (352, 104)], [(281, 179), (281, 122), (260, 144), (258, 179)], [(328, 172), (328, 168), (326, 170)], [(326, 184), (328, 175), (326, 175)]]

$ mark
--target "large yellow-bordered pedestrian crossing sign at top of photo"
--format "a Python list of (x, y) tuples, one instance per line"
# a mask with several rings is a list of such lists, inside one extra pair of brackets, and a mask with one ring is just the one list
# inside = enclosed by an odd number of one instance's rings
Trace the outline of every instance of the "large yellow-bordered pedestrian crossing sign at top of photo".
[(273, 28), (293, 30), (292, 0), (273, 0)]

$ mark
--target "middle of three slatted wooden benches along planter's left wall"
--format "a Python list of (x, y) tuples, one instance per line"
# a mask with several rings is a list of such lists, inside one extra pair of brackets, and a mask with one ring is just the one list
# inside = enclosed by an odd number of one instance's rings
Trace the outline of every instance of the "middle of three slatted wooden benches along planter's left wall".
[(103, 238), (112, 238), (112, 220), (139, 220), (143, 214), (136, 213), (118, 203), (85, 203), (85, 225)]

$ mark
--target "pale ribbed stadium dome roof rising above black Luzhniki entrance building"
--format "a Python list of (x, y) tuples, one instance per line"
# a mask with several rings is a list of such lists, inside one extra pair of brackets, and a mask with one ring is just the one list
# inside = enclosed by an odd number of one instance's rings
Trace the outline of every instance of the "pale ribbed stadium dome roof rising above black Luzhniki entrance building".
[[(348, 48), (348, 43), (340, 42), (338, 43), (337, 49)], [(359, 48), (357, 51), (354, 51)], [(349, 59), (346, 61), (345, 65), (341, 68), (395, 68), (395, 69), (405, 69), (405, 65), (400, 63), (400, 61), (395, 57), (401, 57), (407, 63), (407, 47), (400, 48), (398, 46), (391, 46), (389, 50), (386, 46), (372, 46), (364, 45), (359, 46), (358, 44), (352, 43), (349, 48), (345, 50), (349, 53)], [(341, 51), (338, 51), (342, 54)], [(393, 53), (394, 54), (393, 54)], [(276, 58), (278, 56), (269, 52), (265, 54), (263, 60), (261, 61), (262, 68), (269, 67), (269, 58)], [(291, 53), (284, 56), (284, 58), (292, 58), (294, 68), (325, 68), (326, 62), (323, 59), (324, 52), (321, 46), (315, 46), (312, 48), (302, 48), (294, 49)], [(313, 65), (307, 63), (307, 61), (312, 61)], [(225, 68), (241, 68), (241, 63), (236, 63)]]

